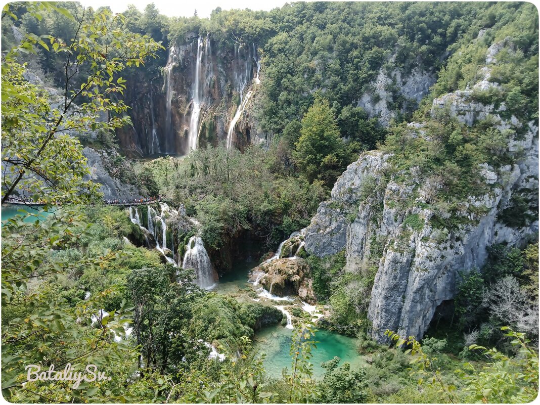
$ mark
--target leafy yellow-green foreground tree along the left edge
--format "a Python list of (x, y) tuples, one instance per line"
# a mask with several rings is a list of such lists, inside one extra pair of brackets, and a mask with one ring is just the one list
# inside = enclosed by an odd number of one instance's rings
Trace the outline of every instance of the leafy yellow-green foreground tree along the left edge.
[[(15, 18), (20, 7), (17, 3), (4, 6), (2, 19)], [(144, 63), (160, 45), (118, 29), (122, 16), (112, 16), (108, 10), (94, 13), (80, 8), (75, 18), (53, 3), (26, 3), (24, 7), (39, 21), (48, 13), (69, 18), (76, 35), (66, 40), (30, 32), (3, 54), (2, 203), (24, 197), (44, 203), (46, 211), (53, 203), (90, 204), (101, 195), (96, 184), (85, 180), (89, 169), (82, 146), (70, 135), (112, 131), (128, 123), (121, 116), (127, 106), (117, 97), (124, 89), (119, 73), (126, 66)], [(39, 80), (25, 80), (22, 55), (35, 53), (37, 46), (65, 60), (64, 83), (57, 96), (48, 93)], [(84, 80), (76, 81), (79, 75)], [(98, 120), (100, 112), (114, 116), (102, 122)], [(36, 214), (27, 215), (32, 216), (39, 219)], [(124, 326), (129, 322), (125, 302), (107, 315), (102, 311), (106, 300), (118, 293), (118, 286), (71, 306), (63, 296), (37, 288), (40, 282), (30, 289), (26, 285), (44, 276), (105, 266), (116, 254), (75, 262), (52, 254), (76, 244), (86, 234), (84, 217), (76, 208), (63, 207), (49, 220), (23, 219), (20, 215), (11, 218), (2, 228), (2, 313), (10, 314), (2, 327), (4, 397), (14, 402), (79, 402), (84, 395), (98, 401), (124, 395), (123, 387), (112, 383), (99, 393), (99, 387), (87, 385), (73, 390), (69, 381), (25, 383), (24, 369), (31, 364), (47, 368), (54, 364), (59, 369), (70, 363), (75, 370), (84, 369), (87, 363), (118, 365), (112, 373), (120, 375), (124, 370), (131, 375), (132, 369), (120, 365), (134, 352), (114, 340), (115, 336), (125, 337)], [(93, 322), (98, 314), (100, 322)], [(125, 381), (124, 375), (121, 381)], [(109, 394), (105, 395), (105, 390)]]

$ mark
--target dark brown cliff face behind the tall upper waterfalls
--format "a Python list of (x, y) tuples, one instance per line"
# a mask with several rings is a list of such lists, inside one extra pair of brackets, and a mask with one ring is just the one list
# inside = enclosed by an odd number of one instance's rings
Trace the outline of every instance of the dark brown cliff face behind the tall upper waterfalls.
[[(249, 113), (260, 85), (256, 44), (217, 43), (189, 33), (172, 44), (160, 77), (139, 74), (125, 97), (133, 127), (118, 131), (132, 156), (181, 153), (227, 140), (243, 150), (257, 136)], [(264, 136), (263, 136), (264, 138)]]

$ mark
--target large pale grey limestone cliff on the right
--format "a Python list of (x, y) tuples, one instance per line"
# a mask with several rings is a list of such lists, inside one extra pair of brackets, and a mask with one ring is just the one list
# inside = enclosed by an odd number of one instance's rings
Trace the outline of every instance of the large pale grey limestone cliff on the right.
[[(487, 63), (496, 56), (494, 48), (488, 51)], [(483, 73), (474, 88), (497, 86), (488, 82), (489, 69)], [(478, 102), (473, 93), (474, 89), (456, 91), (435, 99), (432, 114), (448, 109), (467, 125), (489, 114), (497, 129), (521, 126), (522, 135), (514, 134), (508, 141), (515, 164), (481, 165), (487, 191), (462, 201), (457, 228), (437, 226), (435, 217), (449, 214), (435, 212), (427, 204), (440, 187), (437, 179), (421, 176), (417, 167), (395, 173), (392, 155), (374, 151), (363, 153), (347, 168), (305, 230), (309, 253), (323, 257), (345, 249), (350, 272), (366, 266), (374, 242), (383, 244), (368, 310), (378, 341), (385, 340), (387, 329), (421, 338), (437, 306), (453, 299), (458, 271), (480, 268), (492, 244), (519, 246), (538, 232), (535, 204), (529, 214), (536, 219), (527, 225), (510, 227), (501, 219), (517, 195), (527, 194), (538, 205), (538, 127), (519, 123), (514, 116), (503, 119), (504, 103), (495, 109)], [(424, 137), (422, 127), (409, 124), (414, 137)]]

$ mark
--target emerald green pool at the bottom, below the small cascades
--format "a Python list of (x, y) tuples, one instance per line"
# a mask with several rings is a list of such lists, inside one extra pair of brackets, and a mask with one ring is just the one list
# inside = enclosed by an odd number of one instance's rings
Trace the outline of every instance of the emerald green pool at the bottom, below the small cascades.
[[(255, 335), (255, 348), (266, 353), (264, 362), (266, 373), (271, 377), (280, 378), (281, 370), (291, 368), (292, 329), (282, 326), (267, 327), (261, 329)], [(320, 329), (315, 333), (317, 347), (312, 350), (313, 373), (316, 378), (322, 378), (325, 369), (321, 363), (332, 360), (334, 356), (341, 359), (341, 363), (348, 361), (351, 367), (365, 364), (363, 357), (356, 352), (356, 339), (349, 338), (326, 329)]]

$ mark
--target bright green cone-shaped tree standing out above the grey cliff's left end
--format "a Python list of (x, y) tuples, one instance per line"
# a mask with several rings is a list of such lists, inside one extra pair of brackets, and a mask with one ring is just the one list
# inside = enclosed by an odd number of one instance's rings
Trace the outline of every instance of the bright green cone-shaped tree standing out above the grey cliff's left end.
[(295, 148), (293, 158), (309, 181), (326, 178), (327, 170), (340, 166), (343, 142), (327, 99), (316, 99), (309, 107)]

